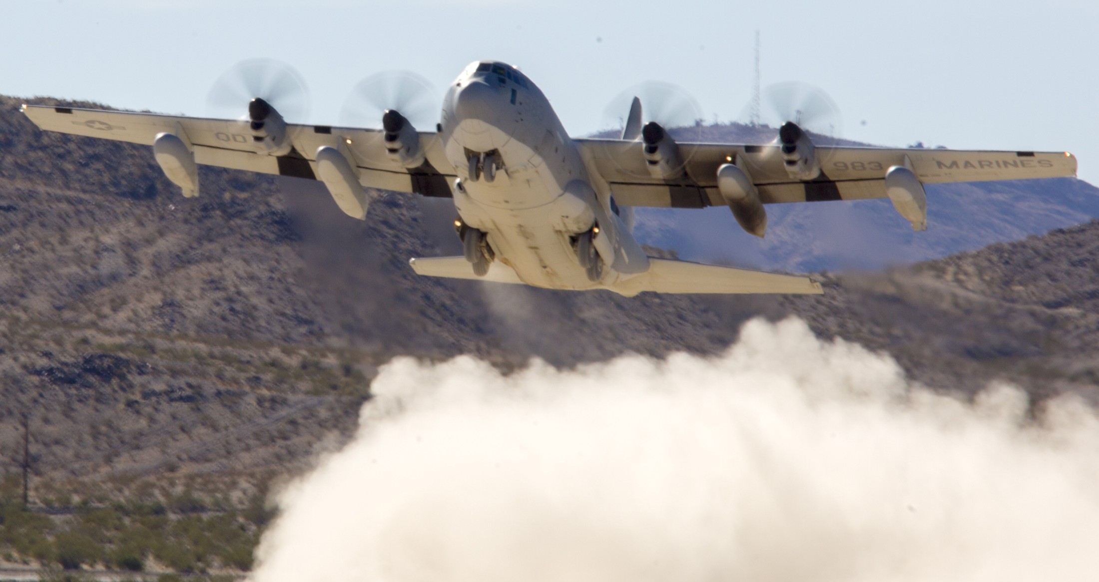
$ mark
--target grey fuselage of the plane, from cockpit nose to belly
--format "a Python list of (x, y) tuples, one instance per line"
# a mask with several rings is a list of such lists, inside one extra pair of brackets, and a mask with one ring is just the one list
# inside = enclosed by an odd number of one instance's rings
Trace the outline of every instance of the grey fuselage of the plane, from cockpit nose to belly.
[[(441, 128), (462, 221), (486, 233), (496, 260), (523, 282), (590, 289), (647, 269), (609, 190), (593, 183), (548, 99), (522, 72), (492, 61), (466, 67), (443, 100)], [(491, 159), (495, 177), (470, 169), (470, 157)], [(596, 281), (576, 250), (577, 235), (592, 228), (606, 265)]]

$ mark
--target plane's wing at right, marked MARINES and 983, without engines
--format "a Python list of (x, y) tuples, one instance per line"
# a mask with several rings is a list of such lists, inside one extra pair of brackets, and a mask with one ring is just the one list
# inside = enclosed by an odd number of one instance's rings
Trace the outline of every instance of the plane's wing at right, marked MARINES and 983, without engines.
[(886, 171), (904, 166), (906, 159), (923, 183), (1076, 176), (1076, 158), (1065, 152), (817, 146), (821, 176), (803, 182), (790, 179), (777, 145), (679, 144), (687, 160), (686, 176), (660, 180), (650, 176), (640, 141), (576, 143), (589, 169), (609, 182), (615, 201), (624, 206), (723, 206), (718, 168), (739, 158), (765, 204), (886, 198)]

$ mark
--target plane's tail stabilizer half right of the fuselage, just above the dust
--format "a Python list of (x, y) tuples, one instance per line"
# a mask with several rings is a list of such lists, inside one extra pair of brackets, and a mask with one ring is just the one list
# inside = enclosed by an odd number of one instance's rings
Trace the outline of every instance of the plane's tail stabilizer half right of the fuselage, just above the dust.
[(808, 277), (700, 265), (682, 260), (648, 259), (647, 272), (610, 287), (623, 295), (655, 293), (798, 293), (821, 294), (821, 284)]

